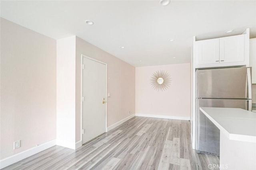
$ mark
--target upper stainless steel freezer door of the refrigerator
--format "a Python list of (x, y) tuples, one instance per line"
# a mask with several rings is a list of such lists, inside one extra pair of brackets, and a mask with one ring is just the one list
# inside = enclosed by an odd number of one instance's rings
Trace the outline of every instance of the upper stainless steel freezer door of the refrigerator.
[(197, 98), (248, 98), (247, 68), (196, 70)]

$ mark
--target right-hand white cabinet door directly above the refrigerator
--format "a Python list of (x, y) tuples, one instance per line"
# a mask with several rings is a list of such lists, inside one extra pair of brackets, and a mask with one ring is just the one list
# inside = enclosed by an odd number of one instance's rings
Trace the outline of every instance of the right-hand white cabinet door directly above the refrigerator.
[(244, 36), (242, 34), (220, 38), (220, 63), (244, 61)]

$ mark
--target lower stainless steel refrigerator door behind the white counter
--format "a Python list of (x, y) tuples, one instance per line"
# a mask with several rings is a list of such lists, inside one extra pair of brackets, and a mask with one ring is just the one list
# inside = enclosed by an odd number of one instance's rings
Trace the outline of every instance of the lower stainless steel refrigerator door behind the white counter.
[(196, 106), (196, 150), (202, 153), (220, 154), (220, 130), (199, 110), (199, 107), (247, 109), (248, 100), (197, 99)]

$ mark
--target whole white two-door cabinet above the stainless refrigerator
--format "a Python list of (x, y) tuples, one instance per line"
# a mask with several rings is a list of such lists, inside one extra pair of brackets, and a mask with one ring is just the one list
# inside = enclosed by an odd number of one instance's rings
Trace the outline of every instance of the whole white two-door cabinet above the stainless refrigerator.
[(249, 32), (247, 28), (241, 35), (200, 41), (194, 37), (193, 67), (249, 66)]

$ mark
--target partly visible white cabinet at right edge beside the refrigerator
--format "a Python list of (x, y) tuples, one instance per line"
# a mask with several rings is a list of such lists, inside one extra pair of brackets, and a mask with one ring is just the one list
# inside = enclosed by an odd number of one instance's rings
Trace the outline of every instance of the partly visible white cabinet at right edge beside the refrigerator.
[(250, 39), (250, 66), (252, 67), (252, 83), (256, 84), (256, 38)]

